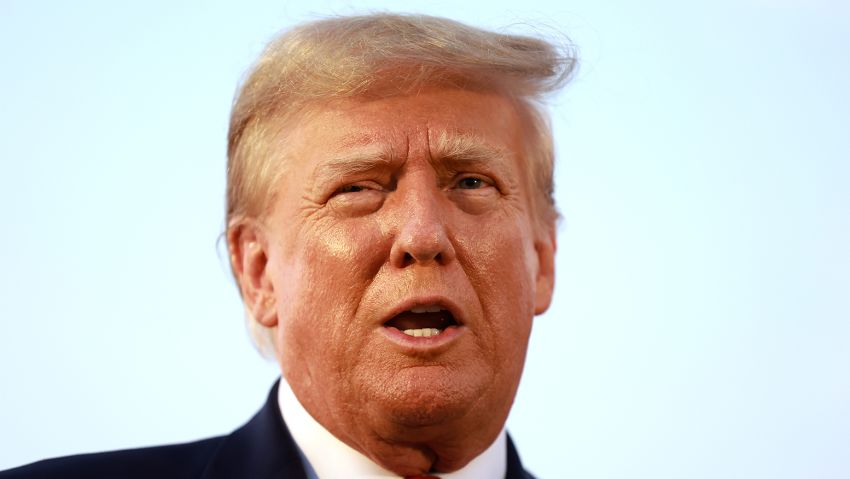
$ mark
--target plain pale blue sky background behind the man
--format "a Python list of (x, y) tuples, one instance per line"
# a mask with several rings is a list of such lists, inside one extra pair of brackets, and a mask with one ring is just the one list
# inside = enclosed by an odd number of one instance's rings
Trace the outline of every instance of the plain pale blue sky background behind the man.
[(0, 468), (226, 433), (276, 376), (223, 229), (235, 85), (311, 13), (566, 31), (558, 285), (509, 427), (543, 478), (850, 477), (839, 1), (0, 0)]

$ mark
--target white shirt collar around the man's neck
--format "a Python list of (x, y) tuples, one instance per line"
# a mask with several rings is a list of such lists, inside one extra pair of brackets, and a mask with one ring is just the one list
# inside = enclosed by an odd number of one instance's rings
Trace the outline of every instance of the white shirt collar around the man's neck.
[[(328, 432), (304, 409), (283, 378), (280, 380), (277, 399), (281, 415), (300, 449), (308, 477), (400, 478)], [(507, 454), (503, 428), (493, 444), (469, 464), (455, 472), (440, 473), (438, 476), (440, 479), (503, 479), (507, 470)]]

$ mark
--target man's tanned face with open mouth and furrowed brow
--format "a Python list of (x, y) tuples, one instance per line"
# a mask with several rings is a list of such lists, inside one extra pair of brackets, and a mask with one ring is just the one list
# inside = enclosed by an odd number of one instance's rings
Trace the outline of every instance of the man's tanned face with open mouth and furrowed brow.
[(504, 424), (552, 292), (524, 131), (502, 96), (426, 90), (317, 107), (276, 150), (261, 309), (296, 396), (373, 459)]

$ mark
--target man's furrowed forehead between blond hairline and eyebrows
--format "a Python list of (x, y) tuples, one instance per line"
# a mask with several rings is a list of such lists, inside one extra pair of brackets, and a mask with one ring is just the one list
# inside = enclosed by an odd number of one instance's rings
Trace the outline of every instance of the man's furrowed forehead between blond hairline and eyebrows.
[(287, 163), (296, 169), (352, 152), (428, 155), (440, 144), (445, 147), (447, 139), (474, 139), (516, 157), (523, 146), (523, 128), (510, 99), (465, 90), (337, 100), (308, 108), (285, 131)]

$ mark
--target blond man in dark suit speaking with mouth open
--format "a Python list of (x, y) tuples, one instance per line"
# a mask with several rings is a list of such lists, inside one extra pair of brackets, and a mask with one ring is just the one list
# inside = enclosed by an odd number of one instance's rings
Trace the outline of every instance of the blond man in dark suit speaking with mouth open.
[(236, 98), (227, 240), (282, 381), (233, 434), (11, 477), (530, 477), (504, 424), (554, 282), (537, 106), (574, 60), (400, 15), (283, 34)]

